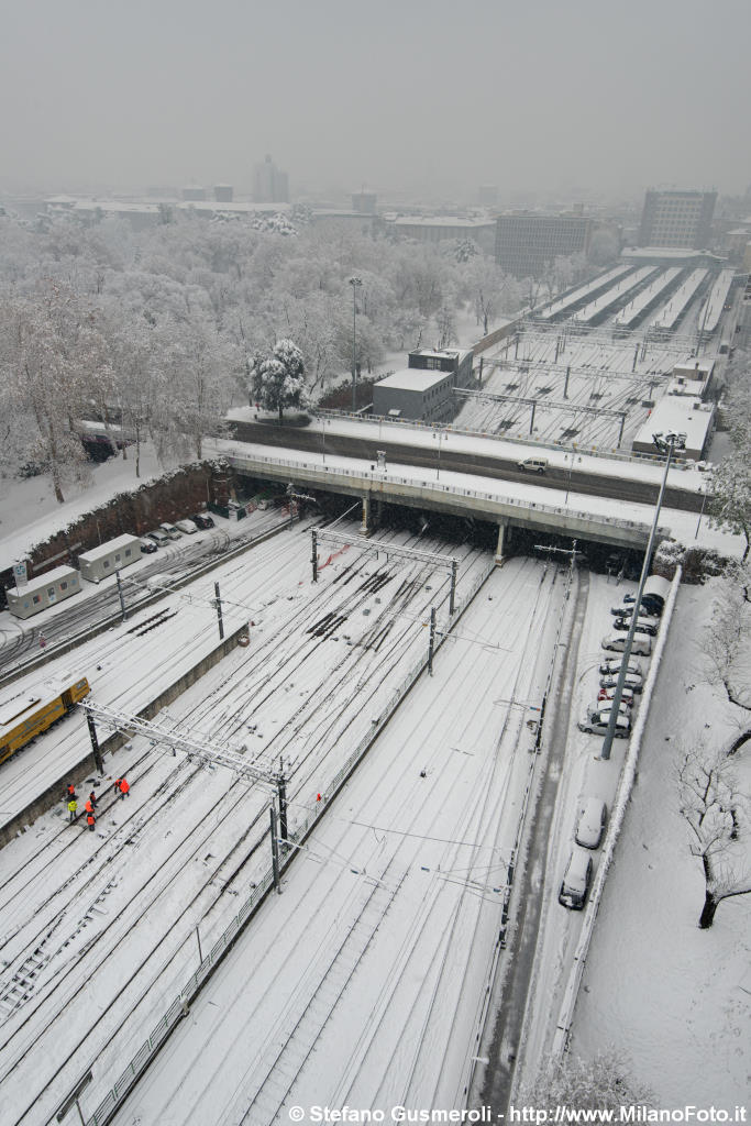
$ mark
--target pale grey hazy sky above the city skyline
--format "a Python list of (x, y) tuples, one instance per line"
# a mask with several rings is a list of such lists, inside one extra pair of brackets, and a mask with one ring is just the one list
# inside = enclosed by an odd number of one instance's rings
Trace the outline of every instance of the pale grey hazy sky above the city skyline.
[(751, 182), (748, 0), (0, 0), (0, 188)]

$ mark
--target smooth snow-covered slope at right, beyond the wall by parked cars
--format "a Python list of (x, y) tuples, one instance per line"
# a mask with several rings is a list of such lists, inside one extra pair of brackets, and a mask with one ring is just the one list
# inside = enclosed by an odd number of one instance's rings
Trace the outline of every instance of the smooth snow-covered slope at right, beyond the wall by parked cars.
[[(707, 588), (680, 591), (638, 783), (608, 875), (573, 1027), (573, 1049), (628, 1052), (655, 1105), (748, 1103), (751, 896), (721, 904), (709, 930), (699, 861), (689, 854), (673, 769), (678, 745), (722, 747), (737, 709), (706, 683)], [(750, 790), (748, 750), (739, 761)]]

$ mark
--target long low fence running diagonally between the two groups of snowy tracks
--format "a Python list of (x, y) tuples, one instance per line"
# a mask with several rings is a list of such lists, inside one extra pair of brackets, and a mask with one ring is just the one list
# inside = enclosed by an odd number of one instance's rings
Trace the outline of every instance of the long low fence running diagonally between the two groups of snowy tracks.
[[(490, 563), (486, 569), (481, 572), (481, 574), (475, 579), (471, 587), (464, 591), (457, 613), (450, 623), (452, 627), (459, 620), (467, 606), (472, 602), (474, 597), (481, 587), (488, 581), (488, 578), (495, 570), (494, 562)], [(436, 643), (436, 651), (440, 649), (447, 637), (450, 636), (450, 631), (441, 631)], [(421, 656), (414, 662), (409, 672), (404, 676), (401, 683), (392, 692), (388, 703), (385, 708), (381, 712), (379, 716), (372, 722), (372, 730), (368, 731), (356, 744), (351, 753), (348, 756), (343, 766), (337, 771), (329, 785), (324, 790), (321, 792), (321, 802), (315, 805), (313, 811), (307, 814), (307, 816), (295, 825), (293, 832), (287, 834), (287, 840), (297, 847), (293, 847), (289, 852), (280, 856), (280, 869), (286, 872), (292, 861), (295, 859), (298, 852), (298, 846), (303, 844), (306, 838), (313, 830), (313, 826), (318, 823), (322, 814), (325, 812), (329, 803), (337, 796), (341, 787), (348, 780), (352, 771), (359, 765), (360, 760), (365, 757), (367, 751), (370, 749), (377, 736), (381, 734), (383, 729), (386, 726), (392, 715), (402, 703), (404, 697), (413, 688), (418, 677), (423, 672), (428, 664), (427, 654)], [(211, 976), (212, 972), (220, 964), (222, 958), (226, 955), (231, 948), (234, 940), (242, 932), (243, 928), (250, 921), (252, 915), (256, 913), (258, 908), (261, 905), (266, 896), (270, 893), (274, 886), (274, 876), (271, 868), (269, 868), (260, 882), (256, 884), (250, 896), (245, 900), (240, 911), (229, 923), (226, 929), (222, 932), (218, 939), (214, 942), (211, 951), (200, 963), (198, 968), (188, 981), (185, 983), (179, 994), (172, 1000), (167, 1011), (159, 1019), (154, 1028), (152, 1029), (150, 1036), (143, 1042), (136, 1054), (129, 1061), (123, 1073), (115, 1081), (115, 1084), (108, 1090), (105, 1098), (98, 1105), (93, 1114), (87, 1118), (86, 1126), (106, 1126), (107, 1123), (111, 1120), (113, 1115), (119, 1109), (126, 1094), (134, 1085), (134, 1083), (141, 1078), (149, 1065), (154, 1060), (160, 1047), (168, 1038), (168, 1036), (173, 1031), (178, 1022), (188, 1015), (190, 1011), (190, 1004), (199, 993), (200, 989), (205, 982)]]

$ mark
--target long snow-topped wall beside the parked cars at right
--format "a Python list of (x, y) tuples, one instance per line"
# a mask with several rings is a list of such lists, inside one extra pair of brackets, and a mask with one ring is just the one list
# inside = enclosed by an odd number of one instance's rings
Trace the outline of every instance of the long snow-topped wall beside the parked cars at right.
[(654, 649), (652, 663), (650, 665), (650, 673), (646, 678), (646, 683), (644, 685), (644, 694), (642, 696), (642, 705), (638, 711), (638, 718), (636, 720), (636, 724), (634, 725), (634, 731), (629, 740), (628, 752), (624, 760), (624, 767), (618, 781), (616, 797), (613, 803), (610, 831), (607, 834), (600, 864), (597, 869), (597, 876), (594, 877), (594, 883), (592, 884), (592, 892), (589, 899), (589, 904), (587, 905), (584, 919), (582, 921), (582, 929), (576, 944), (576, 949), (574, 951), (573, 966), (569, 976), (569, 982), (566, 983), (563, 1002), (561, 1004), (561, 1012), (558, 1015), (555, 1035), (553, 1037), (553, 1049), (551, 1054), (552, 1061), (560, 1061), (562, 1058), (569, 1043), (569, 1033), (573, 1022), (576, 999), (579, 998), (579, 986), (581, 985), (584, 966), (587, 964), (587, 955), (589, 953), (589, 945), (594, 930), (594, 920), (597, 919), (597, 913), (600, 909), (605, 881), (610, 864), (613, 863), (615, 847), (620, 834), (624, 816), (626, 814), (626, 805), (628, 804), (628, 798), (631, 797), (634, 785), (644, 727), (646, 725), (646, 720), (650, 713), (650, 703), (652, 700), (652, 694), (654, 691), (654, 686), (660, 671), (662, 653), (668, 641), (670, 622), (672, 619), (676, 599), (678, 597), (681, 574), (682, 569), (678, 566), (676, 569), (670, 595), (668, 596), (664, 614), (662, 615), (658, 644)]

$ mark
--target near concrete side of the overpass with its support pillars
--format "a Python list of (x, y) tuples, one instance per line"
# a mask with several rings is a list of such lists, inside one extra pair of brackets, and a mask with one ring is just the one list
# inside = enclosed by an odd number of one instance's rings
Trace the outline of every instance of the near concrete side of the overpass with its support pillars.
[[(499, 529), (495, 557), (499, 561), (503, 557), (507, 528), (529, 528), (631, 549), (644, 549), (650, 536), (649, 524), (579, 511), (564, 504), (556, 507), (503, 497), (502, 482), (499, 482), (498, 492), (473, 489), (470, 475), (466, 476), (466, 488), (462, 488), (454, 483), (426, 481), (427, 474), (420, 468), (405, 476), (387, 470), (368, 470), (359, 462), (352, 462), (351, 467), (324, 465), (307, 461), (304, 454), (285, 458), (239, 447), (227, 454), (227, 459), (240, 475), (279, 482), (285, 488), (292, 483), (296, 489), (358, 498), (361, 502), (363, 535), (372, 530), (378, 506), (384, 502), (452, 516), (471, 516), (495, 524)], [(404, 472), (404, 466), (401, 472)], [(667, 528), (660, 530), (669, 534)]]

